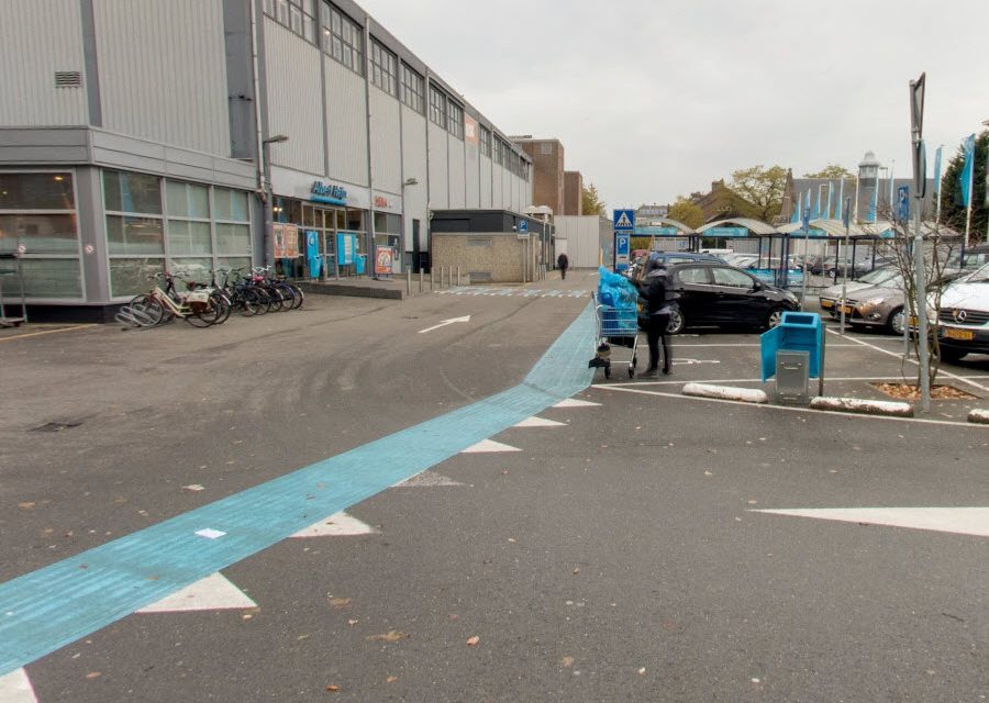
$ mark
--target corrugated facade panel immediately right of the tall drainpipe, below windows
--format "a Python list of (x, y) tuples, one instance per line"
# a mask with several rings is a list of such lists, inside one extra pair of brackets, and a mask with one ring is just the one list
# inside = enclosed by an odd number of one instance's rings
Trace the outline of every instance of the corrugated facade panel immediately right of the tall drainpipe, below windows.
[(323, 172), (323, 100), (320, 53), (265, 19), (265, 76), (268, 133), (288, 142), (271, 144), (271, 163), (308, 174)]

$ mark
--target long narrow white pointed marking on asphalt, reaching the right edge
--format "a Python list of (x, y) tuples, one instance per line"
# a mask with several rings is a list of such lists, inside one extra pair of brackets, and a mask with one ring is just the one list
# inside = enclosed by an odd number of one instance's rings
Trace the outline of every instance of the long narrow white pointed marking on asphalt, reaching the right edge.
[(754, 512), (989, 537), (989, 507), (832, 507)]

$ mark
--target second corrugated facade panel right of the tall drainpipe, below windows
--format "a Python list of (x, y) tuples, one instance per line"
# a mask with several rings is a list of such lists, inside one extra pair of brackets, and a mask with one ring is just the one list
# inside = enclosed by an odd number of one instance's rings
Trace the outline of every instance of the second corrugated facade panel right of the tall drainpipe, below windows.
[[(326, 59), (329, 175), (358, 186), (367, 186), (366, 105), (364, 78), (336, 62)], [(397, 143), (395, 148), (398, 149)]]

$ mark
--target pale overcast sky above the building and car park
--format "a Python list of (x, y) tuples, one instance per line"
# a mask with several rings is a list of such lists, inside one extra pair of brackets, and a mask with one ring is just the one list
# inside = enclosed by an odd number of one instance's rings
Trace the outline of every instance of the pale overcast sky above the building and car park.
[(609, 208), (868, 149), (907, 177), (922, 71), (932, 175), (989, 120), (985, 0), (358, 1), (498, 129), (559, 138)]

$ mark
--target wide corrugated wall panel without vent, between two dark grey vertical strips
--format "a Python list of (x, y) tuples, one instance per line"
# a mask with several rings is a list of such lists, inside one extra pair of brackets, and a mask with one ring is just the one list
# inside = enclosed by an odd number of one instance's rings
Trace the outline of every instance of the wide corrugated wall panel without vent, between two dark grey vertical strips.
[(93, 20), (103, 126), (230, 156), (221, 0), (93, 0)]

